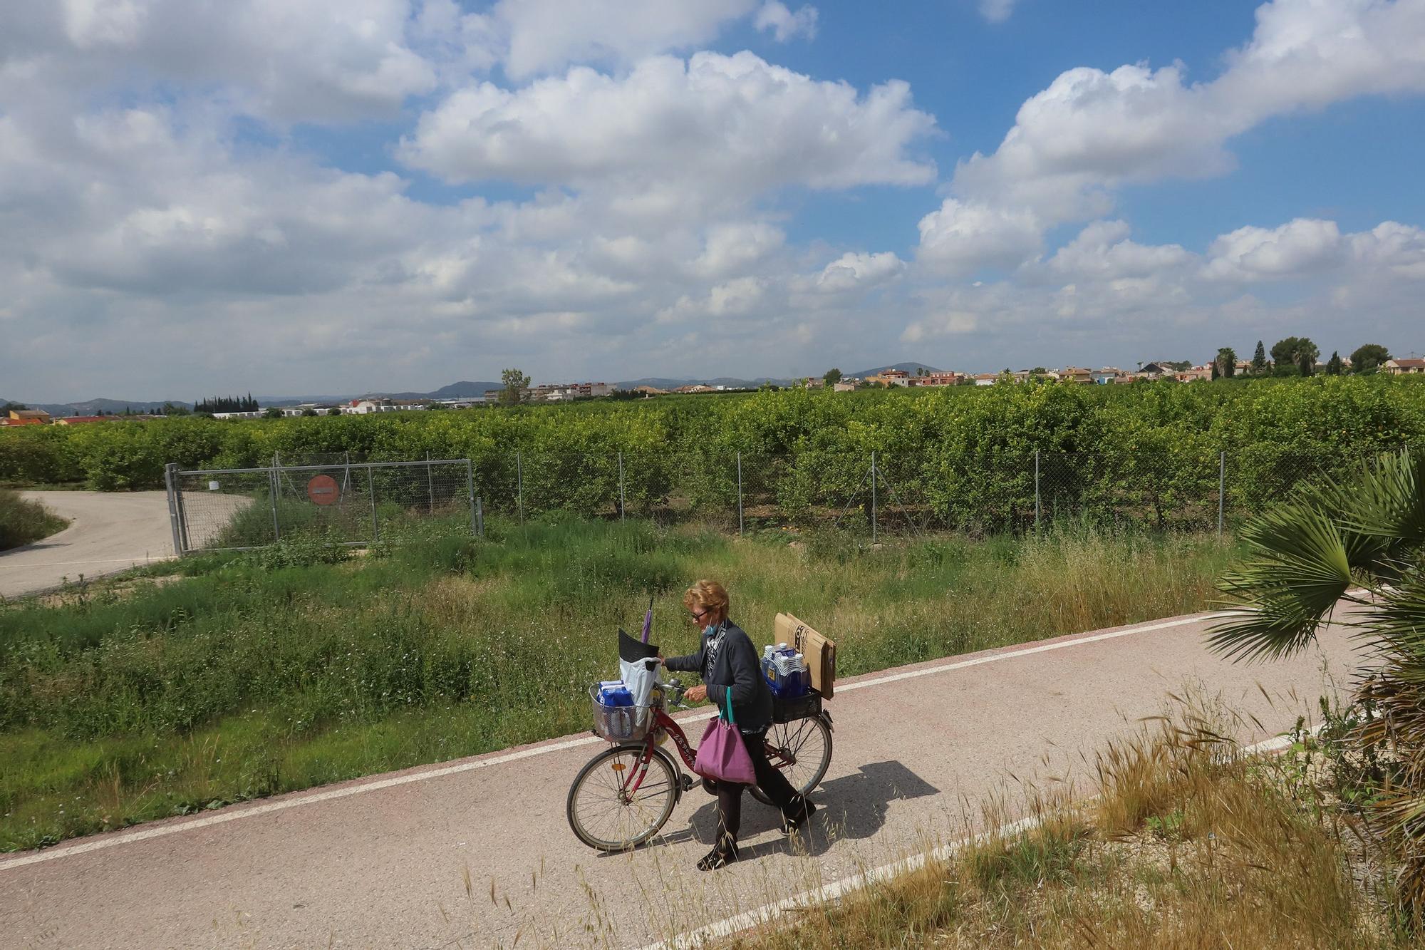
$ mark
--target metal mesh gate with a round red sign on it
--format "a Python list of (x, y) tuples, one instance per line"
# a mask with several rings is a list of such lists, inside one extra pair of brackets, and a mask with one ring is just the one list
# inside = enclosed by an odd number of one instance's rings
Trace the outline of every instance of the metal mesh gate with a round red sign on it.
[[(275, 461), (275, 459), (274, 459)], [(469, 459), (325, 462), (182, 471), (168, 465), (174, 549), (264, 548), (302, 535), (369, 545), (419, 521), (483, 531)]]

